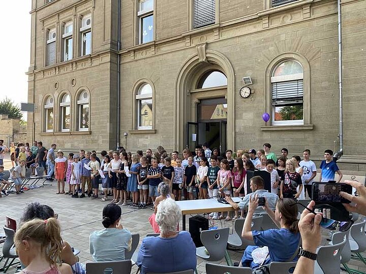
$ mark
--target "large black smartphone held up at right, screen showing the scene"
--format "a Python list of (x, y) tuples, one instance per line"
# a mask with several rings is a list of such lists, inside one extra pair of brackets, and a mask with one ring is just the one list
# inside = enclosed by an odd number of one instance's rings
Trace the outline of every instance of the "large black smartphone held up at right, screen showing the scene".
[(323, 202), (323, 203), (334, 203), (334, 202), (342, 202), (342, 203), (350, 203), (351, 201), (343, 198), (339, 193), (340, 191), (352, 194), (352, 186), (344, 184), (344, 183), (320, 183), (315, 182), (312, 186), (312, 197), (315, 202)]

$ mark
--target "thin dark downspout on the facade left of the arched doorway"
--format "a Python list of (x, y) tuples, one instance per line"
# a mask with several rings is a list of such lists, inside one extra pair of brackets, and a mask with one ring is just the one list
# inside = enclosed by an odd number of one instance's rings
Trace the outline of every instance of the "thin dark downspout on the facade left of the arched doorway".
[(119, 148), (119, 142), (120, 142), (120, 54), (119, 51), (121, 49), (121, 43), (120, 43), (120, 31), (121, 31), (121, 0), (118, 0), (118, 16), (117, 16), (117, 144), (116, 144), (116, 150)]

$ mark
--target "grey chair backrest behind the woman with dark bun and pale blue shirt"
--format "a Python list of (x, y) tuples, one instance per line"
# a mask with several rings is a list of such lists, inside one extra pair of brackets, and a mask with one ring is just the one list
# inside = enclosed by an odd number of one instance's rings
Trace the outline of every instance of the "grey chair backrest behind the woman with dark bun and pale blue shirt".
[(130, 274), (131, 268), (131, 260), (86, 263), (86, 273), (88, 274), (104, 274), (105, 270), (113, 274)]

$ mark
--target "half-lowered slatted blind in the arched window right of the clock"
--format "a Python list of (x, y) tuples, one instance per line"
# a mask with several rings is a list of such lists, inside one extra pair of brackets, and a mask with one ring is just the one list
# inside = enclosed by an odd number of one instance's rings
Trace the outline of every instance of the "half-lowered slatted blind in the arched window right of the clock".
[(272, 104), (286, 105), (303, 100), (303, 80), (272, 83)]

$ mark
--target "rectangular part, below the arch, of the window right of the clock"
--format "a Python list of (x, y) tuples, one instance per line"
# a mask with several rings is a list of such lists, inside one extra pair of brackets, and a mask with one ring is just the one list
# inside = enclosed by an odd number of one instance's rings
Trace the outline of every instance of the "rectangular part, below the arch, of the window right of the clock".
[(303, 80), (272, 83), (273, 125), (303, 124)]

